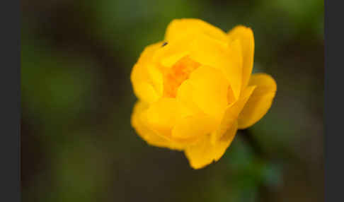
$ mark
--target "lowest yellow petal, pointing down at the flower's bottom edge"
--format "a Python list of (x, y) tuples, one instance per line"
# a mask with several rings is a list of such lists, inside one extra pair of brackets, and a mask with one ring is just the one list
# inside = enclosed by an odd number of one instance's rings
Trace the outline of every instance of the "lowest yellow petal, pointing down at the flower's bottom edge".
[(205, 136), (195, 145), (190, 145), (185, 149), (186, 158), (188, 158), (191, 167), (200, 169), (209, 165), (213, 161), (219, 160), (233, 141), (237, 131), (237, 124), (233, 124), (231, 129), (216, 144), (210, 143), (210, 136)]

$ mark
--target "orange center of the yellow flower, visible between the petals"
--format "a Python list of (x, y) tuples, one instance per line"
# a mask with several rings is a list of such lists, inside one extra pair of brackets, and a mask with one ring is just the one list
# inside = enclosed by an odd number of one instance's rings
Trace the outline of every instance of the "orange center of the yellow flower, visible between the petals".
[(164, 97), (176, 97), (178, 87), (200, 66), (189, 57), (183, 57), (164, 72)]

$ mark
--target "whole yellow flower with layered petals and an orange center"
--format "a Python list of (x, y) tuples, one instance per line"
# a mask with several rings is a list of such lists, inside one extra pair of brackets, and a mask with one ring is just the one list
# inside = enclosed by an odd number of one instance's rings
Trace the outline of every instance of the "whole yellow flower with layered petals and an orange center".
[(173, 20), (132, 69), (139, 98), (132, 126), (150, 145), (183, 150), (194, 169), (219, 160), (275, 97), (271, 76), (251, 75), (253, 52), (250, 28), (225, 33), (198, 19)]

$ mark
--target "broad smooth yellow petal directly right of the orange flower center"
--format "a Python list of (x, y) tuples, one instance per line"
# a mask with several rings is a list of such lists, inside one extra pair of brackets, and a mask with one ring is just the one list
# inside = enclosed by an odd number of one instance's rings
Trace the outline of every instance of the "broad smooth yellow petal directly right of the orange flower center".
[(228, 81), (221, 71), (207, 66), (200, 66), (190, 74), (193, 91), (190, 99), (202, 109), (202, 112), (220, 119), (227, 106)]

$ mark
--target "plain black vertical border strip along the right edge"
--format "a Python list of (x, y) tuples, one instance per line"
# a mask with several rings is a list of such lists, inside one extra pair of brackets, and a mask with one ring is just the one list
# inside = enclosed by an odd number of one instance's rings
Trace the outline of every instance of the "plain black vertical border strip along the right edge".
[[(335, 2), (337, 4), (335, 4)], [(343, 1), (324, 4), (325, 201), (343, 201)], [(331, 25), (332, 30), (329, 30)]]

